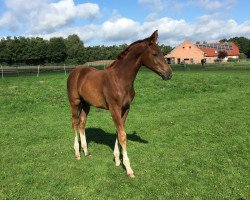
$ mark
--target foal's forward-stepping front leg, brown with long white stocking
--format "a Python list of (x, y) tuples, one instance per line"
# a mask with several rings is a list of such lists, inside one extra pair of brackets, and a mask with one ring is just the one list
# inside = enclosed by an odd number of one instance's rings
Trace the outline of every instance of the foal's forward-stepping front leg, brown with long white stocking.
[[(113, 118), (115, 125), (116, 125), (118, 141), (122, 147), (123, 164), (126, 168), (128, 176), (133, 178), (135, 176), (134, 176), (134, 172), (130, 166), (130, 162), (129, 162), (129, 158), (128, 158), (128, 154), (127, 154), (127, 148), (126, 148), (127, 135), (126, 135), (126, 132), (124, 130), (124, 123), (122, 120), (122, 110), (118, 106), (114, 106), (114, 107), (110, 108), (110, 112), (112, 114), (112, 118)], [(115, 145), (115, 148), (118, 148), (118, 143)], [(117, 156), (117, 155), (115, 155), (115, 156)], [(115, 158), (117, 158), (117, 157), (115, 157)], [(118, 164), (118, 163), (116, 163), (116, 164)]]

